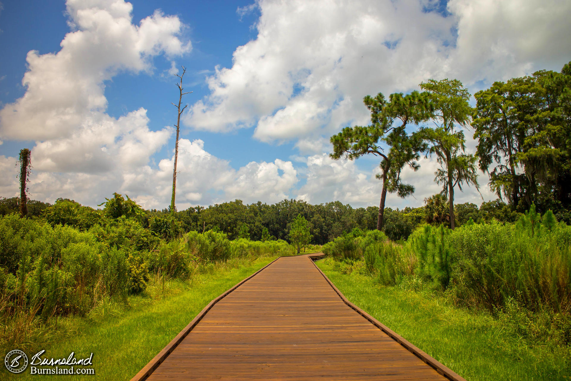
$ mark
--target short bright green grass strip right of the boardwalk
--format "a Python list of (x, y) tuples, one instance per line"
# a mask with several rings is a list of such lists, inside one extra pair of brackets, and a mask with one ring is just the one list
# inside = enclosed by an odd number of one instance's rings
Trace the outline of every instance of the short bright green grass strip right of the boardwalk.
[(529, 346), (486, 312), (428, 291), (379, 287), (371, 276), (342, 274), (332, 259), (316, 264), (348, 300), (469, 381), (571, 379), (568, 347)]

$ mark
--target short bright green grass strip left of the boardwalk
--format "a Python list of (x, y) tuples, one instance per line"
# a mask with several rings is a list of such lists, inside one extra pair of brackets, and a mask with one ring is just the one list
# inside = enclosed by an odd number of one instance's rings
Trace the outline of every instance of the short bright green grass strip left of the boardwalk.
[[(50, 375), (50, 380), (129, 380), (164, 348), (210, 301), (240, 280), (254, 274), (277, 256), (264, 257), (254, 262), (242, 261), (231, 265), (216, 266), (206, 274), (197, 276), (192, 284), (172, 280), (166, 284), (166, 295), (162, 298), (162, 283), (151, 281), (147, 297), (131, 298), (128, 311), (112, 316), (114, 308), (109, 306), (110, 316), (95, 314), (95, 322), (88, 324), (78, 318), (63, 320), (80, 333), (67, 337), (62, 332), (61, 340), (46, 349), (43, 357), (62, 358), (74, 351), (76, 358), (89, 356), (93, 352), (93, 375)], [(99, 312), (106, 311), (104, 306)], [(103, 315), (103, 317), (101, 316)], [(65, 329), (62, 326), (61, 329)], [(28, 357), (35, 352), (26, 351)], [(30, 375), (30, 367), (23, 374), (10, 374), (4, 366), (0, 379), (38, 379)]]

